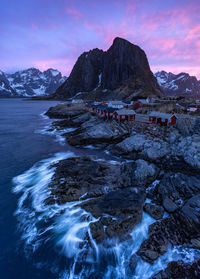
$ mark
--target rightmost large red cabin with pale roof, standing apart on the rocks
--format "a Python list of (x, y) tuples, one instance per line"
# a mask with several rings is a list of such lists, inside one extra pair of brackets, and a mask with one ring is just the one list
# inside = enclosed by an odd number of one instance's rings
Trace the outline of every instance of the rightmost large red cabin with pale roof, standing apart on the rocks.
[(149, 121), (162, 126), (175, 125), (177, 122), (177, 116), (175, 114), (153, 111), (149, 114)]

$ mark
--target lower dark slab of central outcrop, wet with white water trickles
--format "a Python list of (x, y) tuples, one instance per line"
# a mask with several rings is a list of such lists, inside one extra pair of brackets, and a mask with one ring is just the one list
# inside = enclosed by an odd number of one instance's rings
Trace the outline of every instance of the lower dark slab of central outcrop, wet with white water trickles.
[(130, 187), (83, 202), (81, 207), (98, 219), (91, 229), (97, 243), (113, 238), (127, 240), (128, 234), (141, 222), (144, 200), (143, 188)]

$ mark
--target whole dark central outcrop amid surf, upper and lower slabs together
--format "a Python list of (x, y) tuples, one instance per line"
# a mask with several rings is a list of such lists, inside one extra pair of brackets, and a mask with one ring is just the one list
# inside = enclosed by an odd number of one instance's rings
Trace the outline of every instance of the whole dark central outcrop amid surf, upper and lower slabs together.
[[(142, 219), (145, 186), (155, 180), (156, 167), (145, 161), (111, 163), (75, 157), (57, 163), (46, 203), (79, 204), (97, 220), (90, 224), (93, 238), (127, 239)], [(139, 175), (138, 175), (139, 172)]]

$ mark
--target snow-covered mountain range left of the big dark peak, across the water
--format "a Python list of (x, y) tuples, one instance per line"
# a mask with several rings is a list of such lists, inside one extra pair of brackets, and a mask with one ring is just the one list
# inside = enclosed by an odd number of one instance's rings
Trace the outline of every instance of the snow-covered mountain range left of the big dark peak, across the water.
[(54, 69), (41, 72), (30, 68), (14, 74), (0, 71), (0, 97), (44, 96), (55, 90), (66, 80)]

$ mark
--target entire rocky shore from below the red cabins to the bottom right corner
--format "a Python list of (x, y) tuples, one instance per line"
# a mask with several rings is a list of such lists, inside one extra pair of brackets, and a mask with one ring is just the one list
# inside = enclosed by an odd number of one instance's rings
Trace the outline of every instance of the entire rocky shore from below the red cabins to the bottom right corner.
[[(75, 157), (56, 164), (47, 203), (82, 200), (80, 206), (97, 218), (90, 224), (97, 243), (128, 239), (143, 211), (155, 222), (137, 257), (154, 263), (170, 246), (200, 249), (200, 125), (187, 126), (104, 121), (82, 109), (63, 105), (47, 115), (62, 120), (52, 129), (75, 128), (63, 136), (73, 146), (93, 144), (121, 162)], [(128, 160), (127, 160), (128, 159)], [(145, 202), (149, 198), (151, 202)], [(167, 217), (163, 217), (164, 212)], [(164, 215), (166, 216), (166, 214)], [(155, 279), (200, 278), (200, 263), (170, 262)]]

